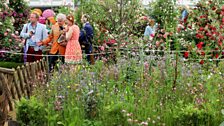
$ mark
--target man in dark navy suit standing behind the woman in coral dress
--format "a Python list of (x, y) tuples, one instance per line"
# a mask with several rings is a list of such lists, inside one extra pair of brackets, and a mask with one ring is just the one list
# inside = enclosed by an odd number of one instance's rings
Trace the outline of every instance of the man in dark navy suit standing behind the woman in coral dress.
[(80, 31), (79, 42), (82, 50), (85, 51), (87, 55), (87, 61), (90, 64), (94, 64), (94, 55), (92, 41), (93, 41), (93, 27), (89, 23), (89, 15), (82, 15), (81, 22), (83, 23), (83, 28)]

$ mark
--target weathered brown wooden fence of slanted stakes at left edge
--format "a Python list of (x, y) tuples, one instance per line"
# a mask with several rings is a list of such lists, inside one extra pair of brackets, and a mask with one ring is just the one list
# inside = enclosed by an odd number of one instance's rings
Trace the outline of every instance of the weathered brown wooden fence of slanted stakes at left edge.
[(0, 126), (9, 111), (14, 111), (14, 101), (29, 98), (36, 86), (48, 81), (48, 65), (43, 59), (19, 66), (16, 69), (0, 67)]

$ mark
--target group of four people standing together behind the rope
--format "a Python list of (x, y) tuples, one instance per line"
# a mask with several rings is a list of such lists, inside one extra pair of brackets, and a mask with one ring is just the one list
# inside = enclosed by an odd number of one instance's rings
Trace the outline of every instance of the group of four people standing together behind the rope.
[[(39, 15), (32, 12), (30, 22), (23, 26), (20, 36), (25, 39), (24, 61), (34, 62), (42, 59), (44, 46), (51, 46), (49, 52), (49, 70), (52, 71), (60, 60), (66, 64), (79, 64), (82, 62), (82, 52), (87, 54), (87, 61), (94, 63), (92, 55), (93, 28), (88, 22), (89, 16), (81, 17), (83, 28), (80, 30), (75, 24), (74, 16), (59, 13), (56, 23), (47, 33), (46, 26), (39, 23)], [(83, 43), (83, 44), (82, 44)], [(82, 51), (83, 50), (83, 51)]]

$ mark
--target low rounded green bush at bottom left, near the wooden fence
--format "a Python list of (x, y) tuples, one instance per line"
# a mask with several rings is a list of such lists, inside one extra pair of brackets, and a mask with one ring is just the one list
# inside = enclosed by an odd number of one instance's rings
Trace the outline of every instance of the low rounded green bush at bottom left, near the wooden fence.
[(35, 97), (22, 98), (16, 104), (16, 118), (22, 126), (45, 126), (45, 115), (44, 104)]

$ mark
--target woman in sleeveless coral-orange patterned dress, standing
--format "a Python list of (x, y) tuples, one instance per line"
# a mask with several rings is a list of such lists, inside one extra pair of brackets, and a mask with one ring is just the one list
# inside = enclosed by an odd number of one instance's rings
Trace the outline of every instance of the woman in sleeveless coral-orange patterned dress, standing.
[(65, 63), (79, 64), (82, 61), (82, 50), (79, 44), (80, 29), (74, 24), (74, 17), (67, 16)]

